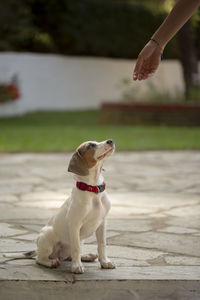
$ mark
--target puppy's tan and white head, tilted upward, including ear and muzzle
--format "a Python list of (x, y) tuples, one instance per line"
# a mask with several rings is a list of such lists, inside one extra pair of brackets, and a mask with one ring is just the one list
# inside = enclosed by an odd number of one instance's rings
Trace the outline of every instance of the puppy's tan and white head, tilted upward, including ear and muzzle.
[(89, 170), (105, 160), (115, 150), (112, 140), (103, 142), (88, 141), (81, 144), (74, 152), (68, 171), (77, 175), (87, 176)]

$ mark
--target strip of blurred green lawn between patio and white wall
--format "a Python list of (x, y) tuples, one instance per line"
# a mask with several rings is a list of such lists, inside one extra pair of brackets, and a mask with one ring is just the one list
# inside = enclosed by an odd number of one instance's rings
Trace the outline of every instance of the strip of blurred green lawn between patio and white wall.
[(117, 150), (200, 149), (200, 127), (101, 125), (99, 112), (37, 112), (0, 119), (1, 152), (74, 151), (112, 138)]

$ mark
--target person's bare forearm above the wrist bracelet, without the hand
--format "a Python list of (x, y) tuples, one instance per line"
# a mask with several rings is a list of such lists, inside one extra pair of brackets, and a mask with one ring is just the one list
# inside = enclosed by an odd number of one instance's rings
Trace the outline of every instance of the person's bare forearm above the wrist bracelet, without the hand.
[(168, 17), (152, 36), (164, 48), (199, 7), (200, 0), (178, 0)]

